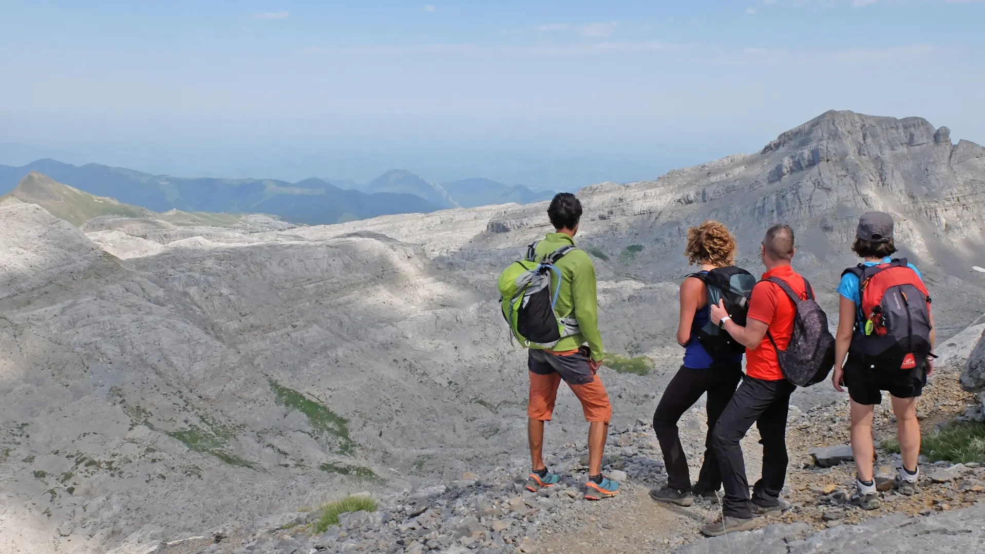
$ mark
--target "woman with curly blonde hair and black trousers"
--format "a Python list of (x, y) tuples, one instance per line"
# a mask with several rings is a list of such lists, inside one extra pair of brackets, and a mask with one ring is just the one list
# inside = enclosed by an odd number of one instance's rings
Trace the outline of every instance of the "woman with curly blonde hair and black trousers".
[[(707, 437), (710, 438), (718, 416), (732, 399), (742, 377), (742, 354), (716, 359), (697, 339), (697, 330), (708, 322), (708, 299), (702, 277), (716, 268), (732, 266), (736, 252), (735, 237), (718, 221), (704, 221), (688, 229), (684, 254), (689, 265), (696, 264), (700, 272), (686, 277), (681, 283), (677, 339), (685, 348), (684, 363), (667, 385), (653, 414), (653, 428), (667, 468), (667, 486), (650, 491), (650, 497), (659, 502), (690, 506), (695, 494), (717, 500), (722, 484), (718, 461), (706, 446), (700, 474), (691, 486), (688, 459), (681, 446), (677, 423), (684, 412), (707, 393)], [(706, 439), (705, 445), (708, 444)]]

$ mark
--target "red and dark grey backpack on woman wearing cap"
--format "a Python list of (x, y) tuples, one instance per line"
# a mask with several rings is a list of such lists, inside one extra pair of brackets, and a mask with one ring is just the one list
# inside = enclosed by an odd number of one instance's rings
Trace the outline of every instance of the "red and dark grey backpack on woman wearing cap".
[(858, 325), (850, 352), (865, 367), (910, 371), (931, 354), (930, 294), (906, 258), (842, 273), (859, 277)]

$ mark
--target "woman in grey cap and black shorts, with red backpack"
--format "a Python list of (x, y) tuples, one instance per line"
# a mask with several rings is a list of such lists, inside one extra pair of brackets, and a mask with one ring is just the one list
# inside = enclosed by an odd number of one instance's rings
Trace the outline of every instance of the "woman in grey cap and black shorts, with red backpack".
[(896, 486), (904, 495), (919, 491), (916, 399), (934, 371), (930, 296), (912, 264), (892, 259), (892, 226), (892, 216), (882, 212), (859, 218), (852, 250), (864, 261), (845, 270), (838, 284), (840, 319), (831, 381), (838, 392), (847, 387), (851, 398), (852, 454), (858, 471), (854, 500), (866, 510), (880, 505), (873, 478), (872, 420), (883, 391), (896, 415), (902, 454)]

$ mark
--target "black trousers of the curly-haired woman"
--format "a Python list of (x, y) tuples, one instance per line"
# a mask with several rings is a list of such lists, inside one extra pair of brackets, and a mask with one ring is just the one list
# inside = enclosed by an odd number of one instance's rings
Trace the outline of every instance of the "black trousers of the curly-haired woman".
[(708, 413), (708, 434), (704, 440), (704, 462), (694, 488), (697, 491), (717, 491), (722, 485), (722, 473), (711, 450), (711, 433), (722, 410), (732, 399), (736, 386), (742, 379), (742, 364), (727, 364), (704, 369), (681, 366), (664, 390), (657, 410), (653, 412), (653, 429), (657, 432), (660, 450), (667, 468), (667, 486), (689, 491), (690, 472), (688, 458), (681, 446), (677, 423), (694, 402), (707, 393), (705, 409)]

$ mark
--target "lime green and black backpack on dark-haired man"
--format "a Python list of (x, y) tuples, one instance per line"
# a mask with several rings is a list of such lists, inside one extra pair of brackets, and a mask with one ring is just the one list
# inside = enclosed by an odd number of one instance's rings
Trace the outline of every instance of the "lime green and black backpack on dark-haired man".
[[(567, 245), (538, 257), (537, 242), (527, 247), (525, 260), (513, 262), (499, 274), (499, 305), (502, 317), (520, 344), (527, 348), (551, 348), (558, 340), (579, 333), (573, 314), (558, 316), (561, 272), (558, 260), (576, 250)], [(551, 276), (558, 285), (551, 289)]]

